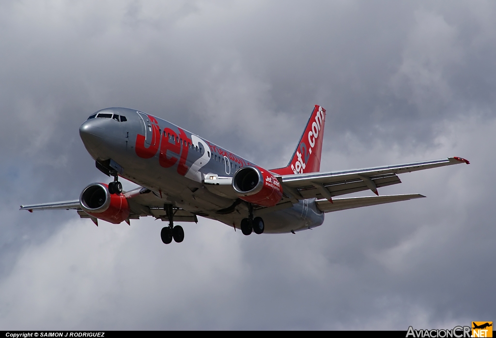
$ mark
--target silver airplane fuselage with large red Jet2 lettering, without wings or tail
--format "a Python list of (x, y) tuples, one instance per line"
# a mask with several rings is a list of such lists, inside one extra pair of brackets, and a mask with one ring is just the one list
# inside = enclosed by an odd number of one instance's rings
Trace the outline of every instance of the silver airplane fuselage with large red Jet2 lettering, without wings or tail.
[[(150, 189), (164, 204), (236, 228), (248, 216), (248, 208), (236, 204), (235, 196), (212, 189), (204, 179), (233, 177), (240, 168), (256, 165), (212, 142), (161, 118), (126, 108), (95, 113), (79, 132), (95, 161), (110, 163), (120, 176)], [(304, 230), (324, 220), (315, 199), (301, 200), (283, 210), (267, 210), (263, 213), (265, 233)]]

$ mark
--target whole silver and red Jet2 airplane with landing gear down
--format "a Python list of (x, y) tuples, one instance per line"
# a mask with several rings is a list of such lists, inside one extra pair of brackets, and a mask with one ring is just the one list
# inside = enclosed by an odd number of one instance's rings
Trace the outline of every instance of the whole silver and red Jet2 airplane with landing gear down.
[[(286, 167), (264, 169), (159, 117), (127, 108), (91, 114), (79, 127), (95, 166), (114, 180), (91, 183), (77, 200), (21, 205), (20, 210), (76, 210), (81, 218), (120, 224), (153, 216), (168, 222), (161, 239), (184, 240), (175, 222), (198, 216), (245, 235), (295, 233), (322, 225), (324, 214), (425, 197), (379, 196), (401, 183), (397, 174), (469, 161), (460, 157), (344, 171), (320, 172), (326, 111), (315, 105)], [(123, 191), (119, 178), (140, 187)], [(335, 198), (371, 190), (376, 196)]]

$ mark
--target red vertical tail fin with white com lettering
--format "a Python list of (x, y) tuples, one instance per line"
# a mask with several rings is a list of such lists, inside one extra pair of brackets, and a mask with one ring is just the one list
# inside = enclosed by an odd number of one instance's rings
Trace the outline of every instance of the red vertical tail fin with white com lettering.
[(325, 109), (315, 105), (288, 166), (270, 171), (280, 175), (319, 171), (322, 139), (324, 138), (324, 123)]

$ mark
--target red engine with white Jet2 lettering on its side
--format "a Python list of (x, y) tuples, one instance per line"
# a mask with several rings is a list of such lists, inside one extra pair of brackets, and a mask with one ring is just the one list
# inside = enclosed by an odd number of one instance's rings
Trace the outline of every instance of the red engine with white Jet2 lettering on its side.
[(233, 177), (233, 188), (242, 200), (264, 207), (275, 206), (282, 198), (279, 181), (259, 167), (239, 169)]

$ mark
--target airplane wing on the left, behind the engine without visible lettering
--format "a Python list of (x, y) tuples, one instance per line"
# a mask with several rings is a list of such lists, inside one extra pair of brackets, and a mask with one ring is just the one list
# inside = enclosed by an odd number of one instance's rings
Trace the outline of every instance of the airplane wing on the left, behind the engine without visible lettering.
[[(127, 203), (130, 208), (129, 219), (136, 220), (140, 217), (153, 216), (155, 219), (160, 219), (162, 221), (169, 221), (169, 217), (164, 206), (164, 201), (156, 196), (151, 190), (143, 187), (139, 187), (127, 192), (123, 192), (124, 196), (127, 198)], [(27, 210), (30, 213), (37, 210), (76, 210), (80, 218), (89, 218), (96, 223), (96, 218), (86, 214), (79, 204), (79, 200), (73, 201), (63, 201), (55, 203), (43, 203), (43, 204), (30, 204), (21, 205), (19, 210)], [(184, 209), (174, 207), (174, 221), (179, 222), (195, 222), (198, 223), (198, 219), (195, 214), (192, 214)]]

